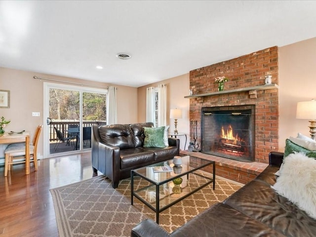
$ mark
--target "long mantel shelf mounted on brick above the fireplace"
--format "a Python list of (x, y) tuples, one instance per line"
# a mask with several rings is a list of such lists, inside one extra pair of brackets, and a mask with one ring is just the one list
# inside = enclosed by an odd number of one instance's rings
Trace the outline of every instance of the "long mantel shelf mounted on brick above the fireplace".
[(233, 90), (223, 90), (223, 91), (215, 91), (215, 92), (209, 92), (209, 93), (203, 93), (203, 94), (188, 95), (188, 96), (185, 96), (184, 98), (191, 99), (191, 98), (204, 97), (204, 96), (223, 95), (223, 94), (231, 94), (231, 93), (244, 92), (244, 91), (270, 90), (270, 89), (277, 89), (277, 88), (278, 88), (277, 84), (264, 84), (264, 85), (246, 87), (246, 88), (238, 88), (238, 89), (233, 89)]

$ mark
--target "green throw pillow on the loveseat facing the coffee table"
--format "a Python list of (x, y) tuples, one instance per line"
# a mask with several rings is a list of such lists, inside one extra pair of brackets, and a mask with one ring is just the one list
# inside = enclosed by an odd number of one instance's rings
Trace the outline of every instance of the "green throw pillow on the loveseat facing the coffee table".
[(165, 147), (163, 143), (164, 126), (144, 127), (144, 147)]

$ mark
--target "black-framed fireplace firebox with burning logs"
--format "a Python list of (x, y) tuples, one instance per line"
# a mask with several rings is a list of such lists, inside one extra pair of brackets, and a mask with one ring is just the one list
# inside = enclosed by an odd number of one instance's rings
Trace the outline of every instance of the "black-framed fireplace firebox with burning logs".
[(254, 150), (254, 105), (202, 108), (201, 153), (252, 162)]

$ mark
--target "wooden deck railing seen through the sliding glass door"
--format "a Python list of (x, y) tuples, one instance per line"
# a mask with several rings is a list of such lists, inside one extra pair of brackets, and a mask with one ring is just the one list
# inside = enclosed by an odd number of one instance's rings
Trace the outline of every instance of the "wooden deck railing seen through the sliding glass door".
[[(92, 125), (106, 125), (106, 121), (83, 121), (83, 127), (91, 127)], [(57, 128), (57, 130), (60, 130), (65, 136), (67, 136), (67, 131), (68, 131), (68, 127), (69, 125), (77, 125), (79, 126), (79, 121), (78, 122), (74, 122), (74, 121), (59, 121), (59, 122), (51, 122), (50, 123), (50, 127), (49, 127), (49, 141), (58, 141), (57, 139), (57, 134), (56, 131), (54, 129), (54, 127)]]

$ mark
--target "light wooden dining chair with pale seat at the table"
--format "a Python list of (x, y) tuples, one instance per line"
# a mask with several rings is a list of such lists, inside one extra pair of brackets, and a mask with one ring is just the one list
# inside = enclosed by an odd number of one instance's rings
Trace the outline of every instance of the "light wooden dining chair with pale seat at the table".
[[(30, 145), (30, 162), (34, 162), (35, 170), (38, 170), (38, 158), (37, 150), (40, 139), (40, 132), (43, 125), (39, 125), (36, 128), (33, 145)], [(13, 167), (13, 164), (25, 163), (25, 143), (24, 144), (10, 144), (4, 150), (5, 161), (4, 161), (4, 176), (7, 176), (8, 170)]]

